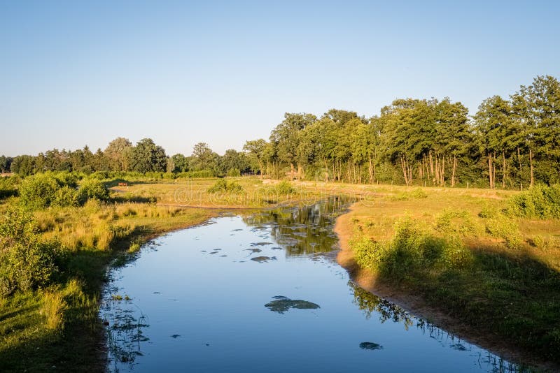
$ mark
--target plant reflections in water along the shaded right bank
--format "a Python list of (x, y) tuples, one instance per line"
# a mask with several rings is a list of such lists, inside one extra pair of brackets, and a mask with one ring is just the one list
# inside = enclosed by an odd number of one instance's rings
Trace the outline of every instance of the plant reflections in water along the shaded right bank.
[(395, 323), (402, 323), (405, 326), (405, 330), (409, 330), (409, 328), (416, 323), (416, 328), (422, 330), (424, 335), (435, 339), (442, 346), (448, 346), (457, 351), (468, 351), (471, 353), (471, 356), (475, 358), (477, 364), (488, 372), (531, 372), (530, 369), (512, 364), (489, 351), (478, 349), (476, 349), (477, 351), (473, 351), (472, 344), (461, 340), (445, 330), (437, 328), (437, 326), (434, 326), (426, 320), (419, 319), (409, 314), (405, 309), (395, 305), (393, 302), (389, 302), (369, 291), (365, 291), (363, 288), (360, 288), (360, 286), (353, 284), (352, 281), (349, 281), (348, 284), (353, 291), (353, 303), (364, 312), (366, 319), (377, 315), (381, 323), (387, 320), (391, 320)]

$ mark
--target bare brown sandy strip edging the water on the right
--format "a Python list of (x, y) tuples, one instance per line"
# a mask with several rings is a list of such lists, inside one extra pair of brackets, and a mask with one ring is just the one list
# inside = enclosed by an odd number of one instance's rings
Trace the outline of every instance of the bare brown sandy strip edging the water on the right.
[(349, 244), (349, 240), (353, 235), (352, 212), (355, 210), (357, 203), (353, 203), (344, 214), (339, 215), (335, 221), (333, 231), (339, 239), (339, 252), (336, 256), (337, 263), (348, 272), (351, 281), (360, 286), (365, 291), (389, 300), (410, 314), (425, 319), (434, 326), (442, 328), (447, 332), (457, 335), (461, 339), (475, 344), (482, 349), (486, 349), (505, 360), (514, 364), (526, 364), (545, 371), (557, 371), (560, 367), (554, 363), (535, 359), (529, 351), (521, 350), (503, 340), (499, 335), (491, 335), (488, 332), (474, 330), (471, 326), (463, 321), (455, 319), (448, 314), (432, 307), (421, 297), (421, 295), (412, 295), (390, 284), (378, 281), (377, 277), (370, 270), (359, 268), (354, 261), (353, 252)]

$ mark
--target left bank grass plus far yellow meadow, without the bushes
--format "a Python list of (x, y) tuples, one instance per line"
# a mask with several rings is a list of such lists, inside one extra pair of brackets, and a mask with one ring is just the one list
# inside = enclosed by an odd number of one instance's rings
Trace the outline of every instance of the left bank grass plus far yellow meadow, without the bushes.
[[(130, 260), (153, 237), (188, 228), (222, 211), (299, 203), (314, 193), (290, 184), (236, 178), (241, 193), (211, 193), (218, 179), (104, 180), (111, 200), (48, 207), (31, 213), (40, 240), (64, 252), (49, 286), (0, 298), (0, 370), (92, 372), (105, 367), (104, 330), (98, 318), (109, 265)], [(0, 214), (19, 208), (18, 197), (0, 199)]]

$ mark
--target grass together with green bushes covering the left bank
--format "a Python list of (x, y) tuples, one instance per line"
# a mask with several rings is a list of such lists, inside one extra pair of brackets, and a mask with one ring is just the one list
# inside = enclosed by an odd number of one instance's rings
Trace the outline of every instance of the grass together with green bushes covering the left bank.
[(133, 193), (137, 202), (121, 200), (106, 188), (113, 181), (99, 175), (0, 180), (21, 194), (0, 204), (0, 370), (102, 370), (97, 314), (106, 266), (210, 213), (158, 206)]

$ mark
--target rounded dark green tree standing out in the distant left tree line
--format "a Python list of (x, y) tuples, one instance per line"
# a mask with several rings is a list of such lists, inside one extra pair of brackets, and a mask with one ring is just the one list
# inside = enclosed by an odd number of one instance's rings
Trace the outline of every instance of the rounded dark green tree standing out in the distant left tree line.
[(151, 138), (144, 138), (130, 149), (129, 164), (131, 170), (139, 173), (162, 173), (167, 168), (167, 156)]

